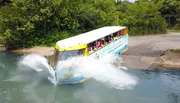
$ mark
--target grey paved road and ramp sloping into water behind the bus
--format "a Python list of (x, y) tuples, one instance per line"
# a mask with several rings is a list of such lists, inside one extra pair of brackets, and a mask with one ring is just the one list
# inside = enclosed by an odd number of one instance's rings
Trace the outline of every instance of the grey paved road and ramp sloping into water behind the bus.
[(123, 55), (129, 68), (147, 69), (168, 49), (180, 48), (180, 33), (165, 35), (130, 36), (129, 49)]

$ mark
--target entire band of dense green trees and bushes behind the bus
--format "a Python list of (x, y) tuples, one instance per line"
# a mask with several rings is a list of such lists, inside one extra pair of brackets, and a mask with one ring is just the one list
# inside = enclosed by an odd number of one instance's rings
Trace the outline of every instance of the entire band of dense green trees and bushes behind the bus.
[[(110, 25), (127, 26), (130, 35), (165, 33), (167, 25), (179, 25), (178, 3), (178, 0), (139, 0), (135, 3), (0, 0), (0, 43), (8, 49), (52, 46), (60, 39)], [(166, 23), (166, 20), (170, 22)]]

